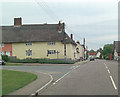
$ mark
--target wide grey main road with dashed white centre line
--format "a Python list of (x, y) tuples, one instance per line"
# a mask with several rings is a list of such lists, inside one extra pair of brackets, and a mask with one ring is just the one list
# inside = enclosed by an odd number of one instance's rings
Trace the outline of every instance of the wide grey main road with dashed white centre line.
[(118, 95), (118, 63), (95, 60), (81, 64), (39, 95)]

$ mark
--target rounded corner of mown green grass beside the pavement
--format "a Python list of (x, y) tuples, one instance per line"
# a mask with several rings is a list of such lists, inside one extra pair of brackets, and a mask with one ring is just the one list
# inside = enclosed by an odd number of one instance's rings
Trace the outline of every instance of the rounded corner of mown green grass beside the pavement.
[(2, 70), (2, 95), (18, 90), (36, 79), (35, 74)]

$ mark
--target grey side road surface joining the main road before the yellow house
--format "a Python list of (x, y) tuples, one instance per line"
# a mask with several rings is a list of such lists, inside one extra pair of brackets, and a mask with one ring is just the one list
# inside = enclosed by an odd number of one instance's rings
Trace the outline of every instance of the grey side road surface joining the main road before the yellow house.
[(74, 65), (42, 65), (42, 66), (3, 66), (3, 69), (12, 69), (20, 71), (34, 71), (47, 73), (53, 76), (54, 81), (70, 71)]

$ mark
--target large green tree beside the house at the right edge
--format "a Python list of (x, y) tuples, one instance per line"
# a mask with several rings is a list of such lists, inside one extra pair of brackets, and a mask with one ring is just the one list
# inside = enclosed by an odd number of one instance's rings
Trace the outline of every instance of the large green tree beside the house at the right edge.
[(102, 55), (104, 56), (104, 59), (109, 59), (110, 54), (113, 52), (113, 44), (106, 44), (103, 47)]

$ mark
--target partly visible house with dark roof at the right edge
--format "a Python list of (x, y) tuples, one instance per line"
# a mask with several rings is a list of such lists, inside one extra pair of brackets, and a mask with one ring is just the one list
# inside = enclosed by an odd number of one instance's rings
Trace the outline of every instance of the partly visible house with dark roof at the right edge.
[(120, 58), (120, 41), (114, 41), (114, 60), (118, 60)]

